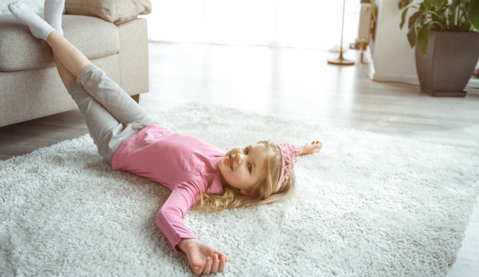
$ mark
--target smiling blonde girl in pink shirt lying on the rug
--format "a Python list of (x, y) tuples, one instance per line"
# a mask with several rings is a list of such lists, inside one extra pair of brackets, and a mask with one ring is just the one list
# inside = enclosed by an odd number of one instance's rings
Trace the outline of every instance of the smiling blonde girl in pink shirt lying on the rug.
[(224, 253), (198, 240), (183, 223), (188, 209), (213, 212), (287, 199), (295, 190), (296, 156), (319, 152), (322, 144), (260, 141), (225, 154), (201, 139), (169, 132), (62, 37), (64, 2), (45, 1), (46, 21), (24, 3), (8, 8), (51, 47), (58, 74), (103, 159), (113, 169), (148, 177), (171, 190), (156, 221), (172, 247), (186, 253), (194, 274), (223, 271), (228, 261)]

